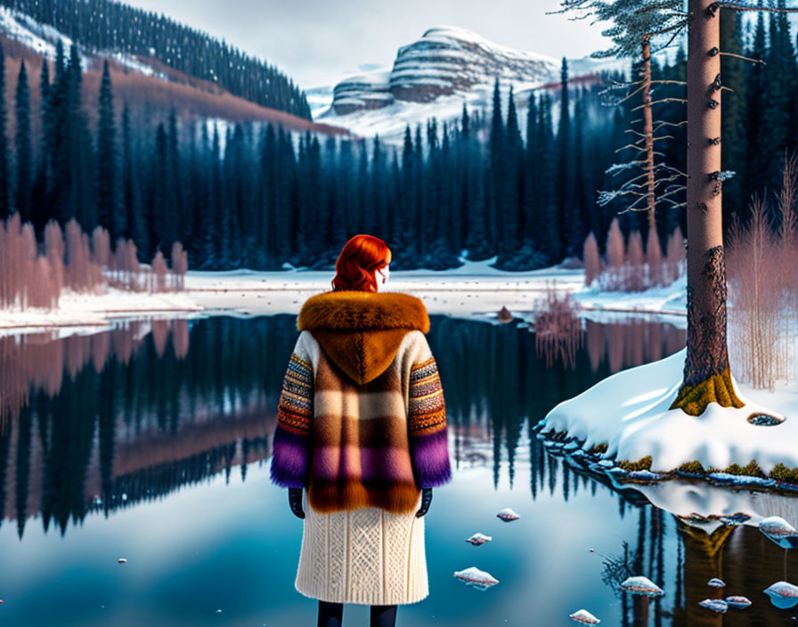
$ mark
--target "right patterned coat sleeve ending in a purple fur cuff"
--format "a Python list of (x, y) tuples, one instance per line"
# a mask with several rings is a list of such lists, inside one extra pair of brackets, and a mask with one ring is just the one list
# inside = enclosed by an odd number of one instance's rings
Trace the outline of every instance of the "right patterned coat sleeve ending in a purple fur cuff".
[(434, 357), (412, 367), (408, 432), (413, 474), (419, 488), (447, 483), (452, 469), (446, 437), (446, 406)]

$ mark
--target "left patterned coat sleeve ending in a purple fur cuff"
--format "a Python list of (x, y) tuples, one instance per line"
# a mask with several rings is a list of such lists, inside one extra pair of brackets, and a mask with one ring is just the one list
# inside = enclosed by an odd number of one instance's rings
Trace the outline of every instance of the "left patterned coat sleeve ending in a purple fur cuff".
[(308, 483), (313, 395), (312, 365), (292, 354), (282, 382), (272, 446), (272, 481), (282, 487), (302, 488)]

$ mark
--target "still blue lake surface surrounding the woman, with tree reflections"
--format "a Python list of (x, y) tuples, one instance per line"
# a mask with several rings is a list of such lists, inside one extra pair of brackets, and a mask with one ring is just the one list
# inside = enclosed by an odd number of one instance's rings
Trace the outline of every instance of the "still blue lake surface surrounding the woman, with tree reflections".
[[(268, 481), (294, 321), (0, 338), (0, 624), (315, 624), (314, 601), (293, 587), (302, 524)], [(428, 514), (430, 596), (398, 624), (567, 625), (581, 608), (619, 626), (794, 624), (798, 608), (763, 593), (798, 582), (793, 553), (706, 517), (750, 507), (795, 525), (798, 501), (706, 484), (617, 491), (530, 437), (556, 403), (684, 343), (664, 322), (586, 326), (575, 364), (547, 367), (515, 323), (433, 317), (455, 473)], [(674, 517), (685, 503), (704, 518)], [(502, 522), (504, 508), (520, 518)], [(493, 539), (472, 546), (474, 533)], [(471, 566), (499, 583), (481, 591), (452, 576)], [(639, 574), (664, 596), (616, 592)], [(726, 588), (707, 586), (714, 577)], [(722, 619), (698, 605), (730, 595), (753, 605)], [(367, 622), (362, 607), (345, 616)]]

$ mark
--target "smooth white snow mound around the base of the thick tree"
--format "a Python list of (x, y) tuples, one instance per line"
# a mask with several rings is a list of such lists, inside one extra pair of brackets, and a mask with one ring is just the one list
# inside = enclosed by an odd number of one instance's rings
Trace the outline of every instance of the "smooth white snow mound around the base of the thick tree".
[[(798, 467), (798, 392), (775, 393), (739, 387), (740, 409), (710, 403), (704, 414), (689, 416), (670, 406), (681, 385), (685, 350), (659, 362), (619, 372), (581, 395), (558, 404), (543, 430), (567, 432), (583, 448), (607, 444), (606, 458), (637, 461), (647, 456), (651, 469), (667, 472), (689, 461), (704, 468), (746, 466), (756, 461), (769, 473), (778, 463)], [(753, 413), (786, 418), (775, 427), (759, 427)]]

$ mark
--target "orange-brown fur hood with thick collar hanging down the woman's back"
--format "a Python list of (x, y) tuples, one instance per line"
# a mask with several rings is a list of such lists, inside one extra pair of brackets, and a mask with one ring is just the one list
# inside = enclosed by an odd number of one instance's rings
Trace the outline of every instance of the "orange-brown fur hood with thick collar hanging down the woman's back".
[(387, 370), (411, 330), (427, 333), (427, 308), (395, 292), (332, 291), (305, 301), (297, 329), (310, 331), (324, 353), (358, 384)]

